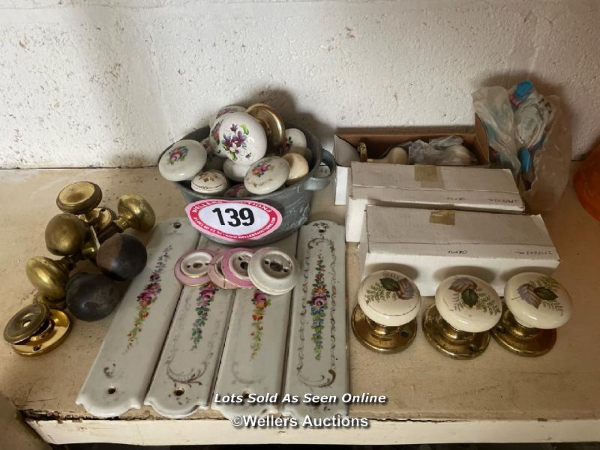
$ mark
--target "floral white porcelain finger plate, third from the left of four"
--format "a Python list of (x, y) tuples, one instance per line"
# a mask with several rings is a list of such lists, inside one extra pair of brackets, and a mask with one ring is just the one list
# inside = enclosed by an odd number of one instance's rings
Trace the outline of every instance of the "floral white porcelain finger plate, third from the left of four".
[[(297, 236), (294, 233), (274, 245), (293, 254)], [(236, 291), (211, 406), (226, 418), (278, 412), (281, 395), (274, 402), (271, 397), (260, 403), (250, 403), (248, 395), (281, 393), (290, 295), (268, 295), (258, 289)], [(227, 402), (231, 395), (239, 396), (242, 403)]]

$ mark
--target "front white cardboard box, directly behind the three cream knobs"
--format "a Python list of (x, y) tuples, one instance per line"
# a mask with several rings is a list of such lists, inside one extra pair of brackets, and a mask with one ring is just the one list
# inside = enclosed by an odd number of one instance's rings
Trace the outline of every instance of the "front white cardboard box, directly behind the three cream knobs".
[(361, 279), (392, 269), (431, 296), (451, 275), (474, 275), (503, 295), (519, 272), (551, 274), (559, 254), (539, 215), (367, 206)]

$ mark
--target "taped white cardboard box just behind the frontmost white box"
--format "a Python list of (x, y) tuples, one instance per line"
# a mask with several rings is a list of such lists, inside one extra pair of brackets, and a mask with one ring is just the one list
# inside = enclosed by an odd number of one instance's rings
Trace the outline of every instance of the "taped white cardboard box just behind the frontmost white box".
[(511, 171), (481, 167), (352, 163), (346, 241), (358, 242), (367, 205), (524, 211)]

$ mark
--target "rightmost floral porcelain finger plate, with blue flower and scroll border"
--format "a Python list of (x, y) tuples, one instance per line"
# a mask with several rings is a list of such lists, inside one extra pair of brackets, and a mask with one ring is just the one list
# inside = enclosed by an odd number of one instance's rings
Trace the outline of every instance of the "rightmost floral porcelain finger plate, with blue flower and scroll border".
[[(344, 227), (317, 220), (302, 226), (298, 260), (302, 281), (293, 290), (284, 392), (336, 395), (349, 392), (346, 340), (346, 242)], [(347, 404), (286, 403), (284, 413), (303, 418), (346, 416)]]

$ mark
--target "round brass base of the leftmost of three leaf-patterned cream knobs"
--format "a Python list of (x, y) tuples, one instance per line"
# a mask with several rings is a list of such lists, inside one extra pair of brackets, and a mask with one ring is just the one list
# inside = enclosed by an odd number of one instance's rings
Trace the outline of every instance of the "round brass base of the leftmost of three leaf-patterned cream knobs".
[(352, 331), (356, 339), (377, 353), (398, 353), (406, 350), (415, 340), (416, 319), (401, 326), (381, 326), (369, 320), (361, 307), (356, 305), (352, 313)]

